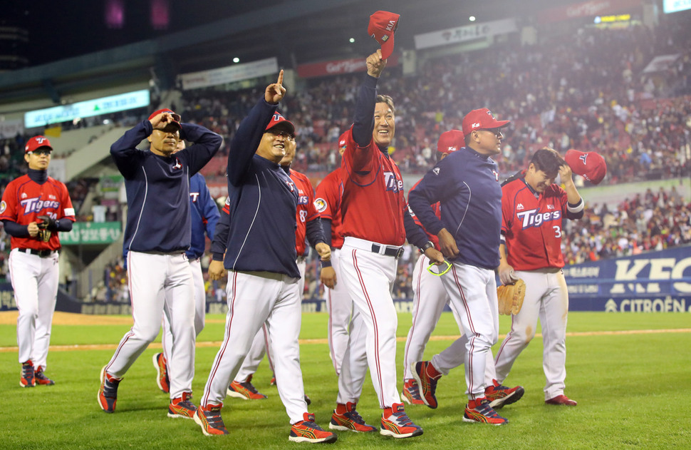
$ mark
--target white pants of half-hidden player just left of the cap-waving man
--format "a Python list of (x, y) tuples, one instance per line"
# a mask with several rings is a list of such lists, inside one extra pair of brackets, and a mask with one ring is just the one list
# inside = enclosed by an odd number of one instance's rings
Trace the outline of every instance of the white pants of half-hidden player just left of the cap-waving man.
[(336, 286), (325, 288), (326, 311), (328, 312), (328, 355), (331, 357), (336, 375), (341, 374), (341, 364), (348, 346), (348, 324), (353, 315), (353, 300), (341, 276), (341, 249), (331, 249), (331, 266), (336, 272)]

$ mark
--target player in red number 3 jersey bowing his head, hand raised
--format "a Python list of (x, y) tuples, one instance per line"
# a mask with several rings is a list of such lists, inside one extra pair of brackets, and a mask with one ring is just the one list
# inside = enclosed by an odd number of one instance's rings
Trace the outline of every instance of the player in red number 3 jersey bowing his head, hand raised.
[[(559, 175), (564, 188), (554, 184)], [(521, 351), (542, 325), (545, 403), (576, 406), (563, 394), (566, 379), (568, 290), (561, 255), (563, 220), (583, 217), (583, 199), (571, 179), (571, 168), (551, 148), (537, 150), (528, 168), (502, 185), (502, 244), (499, 278), (512, 284), (521, 278), (526, 296), (511, 331), (494, 359), (502, 382)]]

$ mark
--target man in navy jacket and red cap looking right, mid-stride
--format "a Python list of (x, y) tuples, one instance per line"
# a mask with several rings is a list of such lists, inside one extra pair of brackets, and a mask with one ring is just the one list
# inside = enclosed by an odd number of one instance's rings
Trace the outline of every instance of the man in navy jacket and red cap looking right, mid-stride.
[[(436, 408), (438, 379), (464, 364), (468, 404), (463, 420), (494, 425), (508, 422), (494, 407), (524, 394), (522, 387), (509, 389), (489, 377), (492, 345), (499, 339), (494, 270), (499, 266), (502, 225), (502, 189), (491, 156), (501, 153), (502, 128), (508, 124), (497, 121), (487, 108), (470, 111), (462, 124), (465, 147), (437, 163), (408, 198), (412, 212), (439, 238), (440, 250), (451, 262), (441, 279), (464, 333), (432, 361), (417, 362), (413, 377), (423, 402)], [(430, 206), (437, 202), (441, 218)]]

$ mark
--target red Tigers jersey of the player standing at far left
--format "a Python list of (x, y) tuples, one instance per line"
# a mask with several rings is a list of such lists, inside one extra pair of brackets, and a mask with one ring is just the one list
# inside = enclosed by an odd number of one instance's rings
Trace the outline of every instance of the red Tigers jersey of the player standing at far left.
[[(67, 192), (67, 186), (48, 177), (46, 183), (39, 185), (28, 175), (12, 180), (0, 203), (0, 220), (11, 220), (19, 225), (36, 222), (39, 215), (47, 215), (55, 220), (68, 218), (74, 222), (74, 208)], [(36, 237), (11, 238), (12, 248), (33, 248), (34, 250), (58, 250), (60, 238), (58, 232), (51, 233), (48, 242)]]

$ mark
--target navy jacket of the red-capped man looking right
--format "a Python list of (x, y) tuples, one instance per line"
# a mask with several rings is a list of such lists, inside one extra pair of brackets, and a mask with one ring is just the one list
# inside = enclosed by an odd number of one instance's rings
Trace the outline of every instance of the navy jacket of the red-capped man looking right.
[[(441, 202), (442, 220), (430, 205)], [(456, 240), (455, 259), (494, 270), (499, 267), (502, 185), (497, 163), (472, 148), (451, 153), (408, 194), (408, 205), (433, 235), (442, 228)]]

